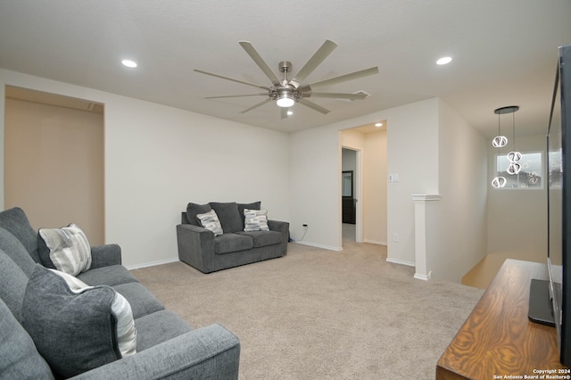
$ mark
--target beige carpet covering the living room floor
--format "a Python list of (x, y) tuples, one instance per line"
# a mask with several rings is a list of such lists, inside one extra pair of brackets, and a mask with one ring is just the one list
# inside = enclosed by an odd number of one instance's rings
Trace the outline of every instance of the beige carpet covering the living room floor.
[(191, 326), (241, 343), (240, 379), (430, 379), (484, 292), (413, 279), (386, 247), (292, 243), (287, 256), (204, 275), (182, 262), (133, 274)]

